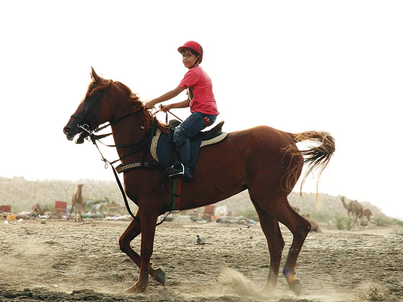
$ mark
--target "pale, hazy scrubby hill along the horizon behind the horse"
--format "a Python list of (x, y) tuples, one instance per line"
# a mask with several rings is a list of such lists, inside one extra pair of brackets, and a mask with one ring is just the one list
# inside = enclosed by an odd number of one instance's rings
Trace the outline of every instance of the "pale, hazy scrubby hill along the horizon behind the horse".
[[(30, 211), (34, 203), (53, 205), (54, 201), (66, 201), (71, 204), (71, 196), (77, 184), (84, 184), (84, 199), (105, 199), (124, 205), (120, 190), (114, 181), (99, 181), (80, 179), (78, 181), (41, 180), (27, 181), (22, 177), (0, 177), (0, 205), (11, 205), (12, 212)], [(292, 192), (289, 196), (290, 204), (300, 209), (300, 213), (309, 213), (314, 219), (327, 222), (334, 217), (347, 217), (347, 210), (343, 207), (341, 196), (320, 194), (320, 210), (316, 210), (315, 194), (304, 193), (301, 197)], [(346, 199), (350, 202), (349, 199)], [(364, 208), (369, 208), (377, 218), (386, 218), (385, 214), (376, 206), (362, 202)], [(232, 215), (245, 215), (254, 211), (247, 191), (216, 204), (227, 205)], [(136, 210), (133, 205), (132, 210)], [(252, 214), (250, 214), (252, 215)], [(375, 219), (374, 217), (374, 219)]]

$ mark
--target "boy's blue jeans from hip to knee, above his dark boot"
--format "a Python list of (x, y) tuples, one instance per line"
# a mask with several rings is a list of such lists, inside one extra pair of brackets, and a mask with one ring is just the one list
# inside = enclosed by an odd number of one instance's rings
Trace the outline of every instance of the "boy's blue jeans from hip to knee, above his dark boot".
[(205, 114), (193, 112), (181, 122), (173, 133), (173, 142), (180, 146), (183, 142), (195, 136), (200, 130), (212, 125), (217, 119), (217, 114)]

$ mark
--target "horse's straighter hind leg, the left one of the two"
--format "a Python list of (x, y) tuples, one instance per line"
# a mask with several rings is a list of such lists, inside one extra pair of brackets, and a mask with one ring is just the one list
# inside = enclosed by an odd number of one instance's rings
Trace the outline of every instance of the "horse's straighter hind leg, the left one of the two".
[(281, 235), (279, 222), (271, 214), (264, 211), (253, 199), (252, 202), (259, 215), (260, 226), (266, 237), (270, 252), (270, 267), (268, 269), (267, 281), (262, 291), (275, 293), (284, 248), (283, 236)]

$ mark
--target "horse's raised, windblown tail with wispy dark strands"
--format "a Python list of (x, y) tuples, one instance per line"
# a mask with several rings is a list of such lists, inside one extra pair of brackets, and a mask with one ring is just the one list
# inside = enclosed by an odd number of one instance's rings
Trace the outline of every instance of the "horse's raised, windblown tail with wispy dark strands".
[(292, 180), (292, 178), (293, 177), (295, 178), (296, 175), (299, 175), (299, 173), (296, 173), (296, 172), (298, 170), (300, 171), (303, 164), (308, 165), (308, 170), (301, 181), (300, 194), (302, 194), (302, 186), (303, 186), (307, 176), (313, 170), (318, 169), (318, 177), (317, 177), (317, 182), (316, 182), (316, 188), (317, 188), (317, 184), (319, 182), (319, 177), (322, 174), (323, 170), (328, 165), (330, 158), (334, 153), (335, 142), (334, 142), (333, 136), (331, 136), (329, 133), (323, 132), (323, 131), (307, 131), (307, 132), (301, 132), (301, 133), (291, 133), (291, 135), (294, 138), (295, 143), (304, 141), (304, 140), (310, 140), (310, 141), (320, 143), (318, 146), (309, 146), (308, 149), (305, 149), (305, 150), (299, 150), (295, 146), (295, 144), (292, 144), (287, 148), (287, 151), (289, 153), (291, 153), (291, 155), (299, 155), (299, 156), (302, 155), (304, 158), (304, 161), (301, 162), (301, 165), (295, 165), (291, 169), (291, 171), (289, 171), (287, 183), (295, 184), (296, 179)]

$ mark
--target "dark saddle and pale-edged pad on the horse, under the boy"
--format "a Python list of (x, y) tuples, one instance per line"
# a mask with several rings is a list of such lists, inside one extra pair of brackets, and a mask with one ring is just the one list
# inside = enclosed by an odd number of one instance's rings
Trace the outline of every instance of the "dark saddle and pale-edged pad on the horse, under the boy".
[[(157, 129), (150, 145), (150, 153), (157, 163), (164, 168), (171, 167), (175, 161), (176, 145), (172, 141), (175, 127), (180, 124), (178, 120), (169, 121), (168, 133)], [(218, 123), (208, 131), (200, 131), (196, 136), (190, 139), (191, 169), (193, 170), (197, 163), (199, 150), (201, 147), (222, 141), (227, 132), (222, 131), (224, 121)]]

